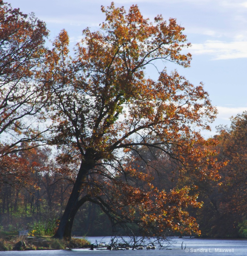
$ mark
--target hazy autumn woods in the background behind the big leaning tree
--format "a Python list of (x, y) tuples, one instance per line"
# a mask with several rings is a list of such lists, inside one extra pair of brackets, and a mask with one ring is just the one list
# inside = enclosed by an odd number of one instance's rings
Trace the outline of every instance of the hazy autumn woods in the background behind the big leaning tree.
[[(151, 176), (153, 186), (159, 190), (194, 184), (198, 201), (203, 201), (203, 205), (188, 212), (196, 218), (202, 236), (246, 237), (246, 124), (244, 112), (232, 118), (231, 127), (218, 128), (213, 148), (218, 152), (217, 161), (227, 161), (227, 165), (219, 169), (220, 178), (216, 180), (209, 177), (200, 180), (197, 175), (180, 173), (172, 162), (154, 151), (143, 152), (149, 167), (141, 166), (141, 159), (137, 159), (134, 168)], [(74, 180), (75, 175), (68, 166), (65, 168), (51, 159), (49, 148), (5, 156), (1, 162), (0, 225), (6, 230), (29, 227), (30, 233), (36, 230), (54, 234)], [(145, 188), (145, 182), (139, 179), (132, 182), (135, 187)], [(106, 236), (112, 231), (110, 220), (97, 204), (87, 202), (79, 208), (73, 235)]]

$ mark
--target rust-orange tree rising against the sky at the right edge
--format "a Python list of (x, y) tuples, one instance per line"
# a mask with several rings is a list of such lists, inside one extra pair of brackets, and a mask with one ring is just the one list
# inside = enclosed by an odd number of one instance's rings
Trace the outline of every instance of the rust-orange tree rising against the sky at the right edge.
[(221, 175), (227, 186), (226, 202), (233, 213), (244, 220), (247, 218), (247, 112), (232, 117), (231, 121), (230, 129), (222, 129), (218, 136), (221, 148), (219, 156), (229, 161)]

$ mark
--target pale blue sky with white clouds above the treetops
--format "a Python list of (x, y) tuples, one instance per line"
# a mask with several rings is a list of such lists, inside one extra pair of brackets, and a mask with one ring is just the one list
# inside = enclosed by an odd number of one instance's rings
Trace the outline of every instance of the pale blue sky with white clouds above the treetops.
[[(70, 47), (82, 38), (82, 30), (98, 30), (105, 20), (100, 7), (109, 6), (107, 0), (5, 0), (23, 13), (34, 12), (46, 22), (53, 40), (62, 29), (70, 36)], [(168, 70), (177, 69), (192, 84), (203, 82), (218, 116), (211, 124), (230, 125), (230, 117), (247, 111), (247, 0), (122, 0), (116, 7), (128, 9), (137, 4), (144, 18), (153, 21), (157, 14), (164, 20), (176, 18), (185, 28), (184, 34), (192, 44), (189, 68), (167, 63)]]

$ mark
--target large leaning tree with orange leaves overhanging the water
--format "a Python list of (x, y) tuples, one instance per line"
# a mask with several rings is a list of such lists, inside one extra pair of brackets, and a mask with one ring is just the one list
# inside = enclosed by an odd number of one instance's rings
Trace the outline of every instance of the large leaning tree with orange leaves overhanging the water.
[[(149, 234), (163, 236), (167, 229), (198, 233), (185, 210), (200, 205), (190, 188), (159, 191), (130, 165), (135, 157), (129, 154), (136, 152), (145, 164), (139, 149), (155, 149), (180, 170), (197, 169), (198, 175), (211, 177), (216, 172), (208, 168), (213, 153), (194, 147), (210, 143), (195, 127), (210, 129), (216, 115), (203, 85), (193, 86), (176, 71), (169, 75), (163, 69), (157, 81), (144, 72), (157, 61), (189, 66), (191, 55), (181, 52), (190, 46), (184, 28), (161, 15), (152, 24), (137, 5), (128, 13), (113, 3), (101, 10), (106, 21), (100, 31), (83, 31), (75, 57), (68, 57), (68, 34), (61, 31), (39, 77), (51, 95), (51, 144), (62, 150), (60, 161), (79, 163), (55, 237), (70, 237), (76, 212), (87, 201), (100, 205), (115, 224), (136, 223)], [(131, 186), (131, 177), (146, 180), (148, 191)]]

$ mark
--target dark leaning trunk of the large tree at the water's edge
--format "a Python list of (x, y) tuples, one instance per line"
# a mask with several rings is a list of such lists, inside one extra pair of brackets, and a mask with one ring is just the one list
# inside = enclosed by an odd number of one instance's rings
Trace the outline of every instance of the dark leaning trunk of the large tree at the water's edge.
[(76, 215), (76, 212), (78, 211), (80, 205), (79, 196), (81, 192), (81, 186), (82, 182), (87, 175), (88, 171), (92, 169), (94, 164), (88, 164), (88, 163), (81, 163), (79, 172), (76, 177), (75, 184), (73, 186), (72, 192), (69, 196), (68, 203), (66, 205), (66, 208), (64, 210), (63, 216), (60, 220), (58, 229), (53, 236), (54, 238), (66, 238), (69, 239), (71, 237), (71, 230), (72, 230), (72, 225), (73, 221)]

